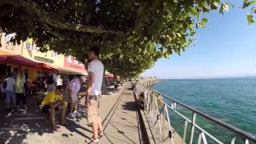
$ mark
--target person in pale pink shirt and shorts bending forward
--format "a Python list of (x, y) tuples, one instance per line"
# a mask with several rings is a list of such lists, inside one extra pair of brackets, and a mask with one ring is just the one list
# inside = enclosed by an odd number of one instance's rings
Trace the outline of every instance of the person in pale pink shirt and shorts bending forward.
[(70, 115), (69, 117), (73, 118), (74, 114), (78, 114), (78, 92), (81, 88), (81, 85), (86, 83), (86, 77), (81, 76), (80, 78), (74, 78), (70, 81), (70, 84), (67, 86), (69, 98), (71, 100), (70, 106)]

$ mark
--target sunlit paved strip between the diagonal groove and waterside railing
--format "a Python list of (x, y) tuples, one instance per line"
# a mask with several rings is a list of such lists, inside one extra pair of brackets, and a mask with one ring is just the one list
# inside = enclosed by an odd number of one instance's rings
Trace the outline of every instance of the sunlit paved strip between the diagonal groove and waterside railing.
[(123, 90), (103, 127), (106, 138), (102, 143), (140, 143), (142, 134), (138, 121), (138, 107), (132, 90)]

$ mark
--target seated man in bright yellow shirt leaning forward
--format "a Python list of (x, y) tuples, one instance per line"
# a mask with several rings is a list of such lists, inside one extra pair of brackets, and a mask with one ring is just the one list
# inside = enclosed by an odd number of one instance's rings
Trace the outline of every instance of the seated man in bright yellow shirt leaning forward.
[(55, 123), (55, 110), (62, 110), (62, 126), (66, 126), (65, 117), (66, 117), (66, 105), (67, 99), (62, 98), (63, 87), (57, 86), (55, 91), (50, 91), (46, 94), (45, 98), (42, 100), (42, 112), (50, 113), (50, 122), (53, 126), (53, 130), (56, 132), (61, 132), (59, 128), (57, 128)]

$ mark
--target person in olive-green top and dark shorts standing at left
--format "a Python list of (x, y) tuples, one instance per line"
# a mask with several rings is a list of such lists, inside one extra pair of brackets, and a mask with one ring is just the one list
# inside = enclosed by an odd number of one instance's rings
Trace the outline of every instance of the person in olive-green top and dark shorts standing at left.
[(22, 71), (18, 71), (17, 76), (16, 76), (16, 81), (15, 81), (15, 93), (16, 93), (16, 105), (18, 108), (18, 111), (20, 111), (20, 102), (22, 100), (23, 105), (25, 107), (25, 110), (27, 110), (26, 106), (26, 95), (25, 95), (25, 84), (26, 78), (25, 75), (22, 73)]

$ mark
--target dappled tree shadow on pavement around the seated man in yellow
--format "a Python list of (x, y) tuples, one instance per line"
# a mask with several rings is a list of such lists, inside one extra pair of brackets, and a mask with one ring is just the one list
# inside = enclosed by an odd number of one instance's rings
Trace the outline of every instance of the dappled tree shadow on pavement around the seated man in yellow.
[[(17, 113), (17, 110), (12, 110), (10, 112), (7, 112), (6, 110), (1, 111), (0, 144), (30, 143), (31, 141), (27, 142), (28, 135), (38, 134), (39, 136), (42, 136), (43, 134), (56, 133), (51, 128), (49, 114), (42, 114), (41, 110), (39, 108), (34, 108), (34, 106), (29, 106), (29, 108), (30, 110), (22, 110), (22, 113)], [(81, 122), (86, 118), (86, 107), (79, 104), (78, 111), (79, 115), (75, 118), (66, 118), (68, 126), (65, 127), (69, 130), (68, 133), (74, 132), (80, 134), (84, 138), (90, 138), (79, 131), (79, 129), (89, 131), (90, 133), (92, 133), (92, 131), (78, 124), (78, 122)], [(60, 123), (60, 111), (56, 114), (56, 123), (57, 125)], [(62, 137), (66, 138), (74, 136), (71, 133), (66, 134), (61, 132), (60, 134), (62, 134)]]

